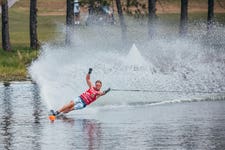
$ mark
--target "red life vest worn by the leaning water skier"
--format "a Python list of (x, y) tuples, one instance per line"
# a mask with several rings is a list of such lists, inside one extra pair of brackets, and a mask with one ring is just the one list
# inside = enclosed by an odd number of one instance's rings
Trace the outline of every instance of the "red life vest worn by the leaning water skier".
[(90, 89), (82, 93), (80, 97), (86, 105), (89, 105), (97, 99), (97, 96), (100, 95), (100, 93), (100, 91), (97, 91), (94, 87), (91, 87)]

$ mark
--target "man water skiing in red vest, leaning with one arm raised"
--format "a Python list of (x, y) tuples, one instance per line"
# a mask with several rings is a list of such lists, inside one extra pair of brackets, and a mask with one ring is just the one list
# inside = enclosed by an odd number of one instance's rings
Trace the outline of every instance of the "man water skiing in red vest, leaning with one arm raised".
[(54, 116), (59, 115), (60, 113), (68, 113), (72, 110), (83, 109), (87, 105), (97, 100), (100, 96), (103, 96), (110, 91), (110, 88), (108, 88), (107, 90), (103, 92), (100, 91), (102, 87), (102, 82), (100, 80), (97, 80), (94, 86), (90, 80), (91, 72), (92, 72), (92, 68), (89, 68), (88, 74), (86, 75), (86, 82), (89, 89), (85, 91), (83, 94), (81, 94), (80, 96), (78, 96), (74, 101), (73, 100), (70, 101), (69, 104), (63, 106), (61, 109), (57, 110), (56, 112), (51, 110), (51, 113)]

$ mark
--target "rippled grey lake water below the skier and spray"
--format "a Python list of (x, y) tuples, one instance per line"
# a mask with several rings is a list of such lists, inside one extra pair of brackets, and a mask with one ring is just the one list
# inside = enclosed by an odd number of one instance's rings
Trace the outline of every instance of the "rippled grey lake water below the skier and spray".
[(224, 149), (225, 100), (215, 97), (90, 105), (51, 123), (36, 84), (0, 85), (0, 149)]

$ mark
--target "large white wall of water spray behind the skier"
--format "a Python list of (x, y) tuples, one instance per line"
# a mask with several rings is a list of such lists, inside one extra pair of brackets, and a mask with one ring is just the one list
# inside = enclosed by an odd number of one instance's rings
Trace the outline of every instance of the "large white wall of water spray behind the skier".
[(80, 28), (71, 32), (74, 42), (66, 47), (42, 45), (29, 72), (46, 106), (57, 109), (83, 93), (89, 67), (94, 69), (92, 81), (100, 79), (103, 89), (114, 87), (114, 92), (95, 103), (101, 106), (225, 93), (224, 27), (218, 27), (207, 41), (196, 26), (182, 39), (166, 30), (168, 25), (158, 25), (160, 33), (149, 41), (143, 36), (147, 27), (138, 25), (128, 26), (129, 40), (135, 41), (130, 48), (122, 46), (119, 26)]

